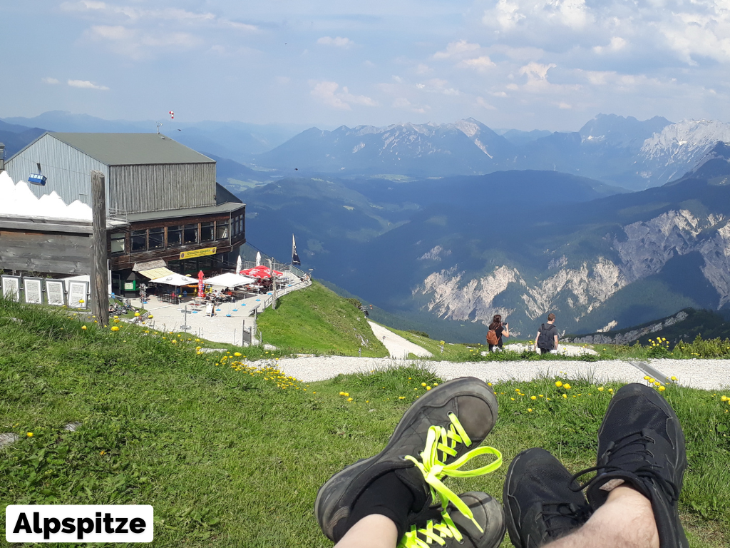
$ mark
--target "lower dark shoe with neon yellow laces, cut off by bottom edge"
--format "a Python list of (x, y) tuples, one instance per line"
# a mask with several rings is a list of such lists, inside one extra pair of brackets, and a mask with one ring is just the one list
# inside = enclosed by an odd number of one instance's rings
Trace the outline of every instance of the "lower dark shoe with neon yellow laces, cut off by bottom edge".
[(466, 519), (461, 512), (446, 511), (418, 525), (412, 525), (398, 543), (398, 548), (423, 548), (440, 545), (446, 548), (496, 548), (504, 538), (504, 510), (502, 504), (485, 492), (466, 492), (459, 499), (469, 507), (474, 521)]

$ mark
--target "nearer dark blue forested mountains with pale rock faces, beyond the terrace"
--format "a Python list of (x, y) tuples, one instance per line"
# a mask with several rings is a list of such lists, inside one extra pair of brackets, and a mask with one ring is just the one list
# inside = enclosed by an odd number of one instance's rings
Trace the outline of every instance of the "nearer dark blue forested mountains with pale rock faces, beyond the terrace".
[[(434, 332), (483, 338), (621, 329), (730, 306), (730, 147), (664, 186), (619, 192), (559, 172), (393, 182), (291, 178), (239, 194), (256, 245)], [(447, 322), (444, 322), (447, 320)], [(436, 331), (438, 332), (438, 331)], [(479, 337), (476, 339), (475, 337)]]

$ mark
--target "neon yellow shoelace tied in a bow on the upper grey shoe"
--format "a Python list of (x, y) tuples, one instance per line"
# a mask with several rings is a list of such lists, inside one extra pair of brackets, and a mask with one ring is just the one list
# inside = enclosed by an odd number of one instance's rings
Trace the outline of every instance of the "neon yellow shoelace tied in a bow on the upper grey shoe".
[[(449, 419), (451, 420), (450, 429), (446, 430), (442, 426), (431, 426), (429, 433), (426, 436), (426, 447), (423, 452), (420, 453), (420, 460), (410, 455), (407, 455), (407, 460), (412, 461), (418, 467), (423, 478), (426, 479), (426, 483), (429, 484), (431, 490), (431, 497), (434, 501), (438, 500), (441, 502), (443, 508), (442, 517), (445, 518), (447, 529), (452, 528), (456, 530), (456, 525), (453, 525), (450, 517), (448, 517), (446, 508), (449, 503), (452, 503), (458, 511), (464, 516), (468, 517), (469, 520), (477, 526), (477, 528), (483, 532), (483, 529), (477, 520), (474, 519), (474, 514), (469, 506), (466, 506), (458, 495), (446, 487), (442, 483), (442, 479), (446, 476), (454, 478), (471, 478), (476, 476), (483, 476), (485, 473), (491, 473), (497, 468), (502, 466), (502, 453), (493, 447), (483, 446), (472, 449), (469, 452), (464, 453), (453, 463), (445, 464), (447, 455), (450, 457), (456, 457), (456, 444), (463, 443), (467, 447), (472, 445), (472, 440), (469, 439), (469, 435), (466, 435), (464, 427), (458, 421), (455, 414), (450, 414)], [(439, 452), (442, 454), (442, 459), (439, 460)], [(475, 457), (479, 457), (483, 454), (493, 454), (496, 459), (488, 465), (480, 468), (474, 468), (473, 470), (459, 470), (462, 466), (472, 460)], [(458, 533), (458, 531), (457, 531)], [(453, 534), (453, 531), (452, 531)], [(456, 536), (456, 535), (453, 535)], [(461, 535), (459, 535), (461, 536)]]

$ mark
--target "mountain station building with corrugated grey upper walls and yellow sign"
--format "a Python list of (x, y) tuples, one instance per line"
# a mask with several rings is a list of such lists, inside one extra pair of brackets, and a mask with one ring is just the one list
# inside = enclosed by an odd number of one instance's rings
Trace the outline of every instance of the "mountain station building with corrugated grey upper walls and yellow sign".
[[(137, 292), (169, 270), (196, 276), (232, 268), (246, 241), (246, 206), (216, 183), (215, 160), (162, 134), (47, 132), (4, 168), (16, 183), (28, 181), (36, 197), (55, 192), (66, 204), (89, 206), (91, 170), (104, 173), (117, 294)], [(91, 218), (12, 217), (0, 215), (1, 269), (90, 273)]]

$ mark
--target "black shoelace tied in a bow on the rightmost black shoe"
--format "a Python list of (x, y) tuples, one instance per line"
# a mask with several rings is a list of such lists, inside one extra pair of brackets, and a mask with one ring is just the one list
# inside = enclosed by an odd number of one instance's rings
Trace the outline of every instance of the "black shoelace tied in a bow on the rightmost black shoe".
[[(672, 503), (675, 503), (679, 500), (680, 490), (677, 485), (664, 479), (658, 473), (658, 471), (663, 468), (662, 466), (653, 465), (648, 463), (647, 461), (644, 461), (644, 463), (638, 465), (633, 470), (626, 470), (626, 466), (615, 464), (617, 460), (621, 459), (621, 457), (625, 457), (631, 454), (639, 453), (653, 457), (652, 452), (650, 452), (646, 448), (647, 443), (653, 444), (655, 443), (655, 440), (645, 432), (642, 432), (640, 434), (628, 435), (625, 438), (621, 438), (618, 443), (615, 444), (612, 442), (611, 444), (609, 444), (604, 454), (601, 455), (601, 458), (599, 459), (599, 465), (592, 466), (591, 468), (586, 468), (585, 470), (573, 475), (570, 481), (570, 489), (576, 492), (582, 491), (593, 482), (595, 482), (596, 479), (598, 479), (604, 473), (631, 472), (635, 476), (639, 477), (639, 479), (649, 480), (657, 484), (661, 488), (661, 490), (664, 491), (666, 496), (669, 497), (669, 500), (672, 501)], [(639, 447), (631, 447), (636, 445), (638, 445)], [(589, 472), (599, 472), (599, 475), (596, 475), (595, 477), (593, 477), (593, 479), (590, 479), (584, 484), (578, 484), (577, 487), (573, 487), (574, 483), (577, 484), (577, 482), (575, 482), (574, 480), (577, 480), (578, 478), (580, 478), (580, 476), (583, 476), (583, 474)]]

